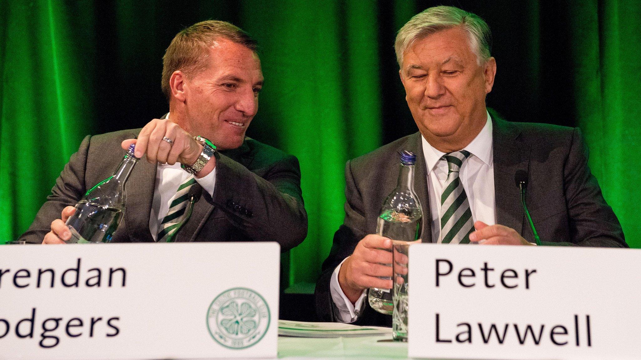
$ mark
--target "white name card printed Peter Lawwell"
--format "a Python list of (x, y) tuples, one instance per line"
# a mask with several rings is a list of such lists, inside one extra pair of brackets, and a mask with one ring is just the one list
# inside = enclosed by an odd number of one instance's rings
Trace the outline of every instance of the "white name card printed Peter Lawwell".
[(638, 359), (641, 251), (410, 247), (408, 354)]

